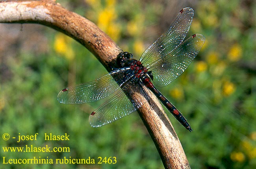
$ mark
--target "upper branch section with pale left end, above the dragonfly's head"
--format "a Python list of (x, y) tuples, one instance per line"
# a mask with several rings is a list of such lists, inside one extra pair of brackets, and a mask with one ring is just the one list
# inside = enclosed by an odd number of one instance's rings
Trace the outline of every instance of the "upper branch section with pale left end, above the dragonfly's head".
[(108, 71), (122, 50), (93, 22), (52, 0), (10, 1), (0, 3), (0, 22), (35, 23), (52, 27), (84, 45)]

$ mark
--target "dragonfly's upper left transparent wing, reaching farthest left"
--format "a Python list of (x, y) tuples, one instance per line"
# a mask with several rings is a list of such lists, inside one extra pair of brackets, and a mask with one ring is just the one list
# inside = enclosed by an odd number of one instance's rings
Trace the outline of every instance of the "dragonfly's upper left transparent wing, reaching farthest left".
[(133, 76), (129, 70), (116, 69), (94, 81), (67, 87), (59, 92), (57, 100), (63, 104), (83, 104), (105, 98)]

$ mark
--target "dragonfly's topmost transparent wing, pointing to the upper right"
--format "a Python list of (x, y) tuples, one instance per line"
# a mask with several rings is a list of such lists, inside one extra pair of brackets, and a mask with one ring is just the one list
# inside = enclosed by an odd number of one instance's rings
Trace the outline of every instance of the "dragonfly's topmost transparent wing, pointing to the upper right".
[(193, 16), (194, 11), (192, 8), (187, 7), (180, 11), (169, 29), (141, 55), (140, 61), (145, 67), (148, 67), (155, 60), (167, 55), (167, 53), (173, 51), (183, 42), (189, 31)]

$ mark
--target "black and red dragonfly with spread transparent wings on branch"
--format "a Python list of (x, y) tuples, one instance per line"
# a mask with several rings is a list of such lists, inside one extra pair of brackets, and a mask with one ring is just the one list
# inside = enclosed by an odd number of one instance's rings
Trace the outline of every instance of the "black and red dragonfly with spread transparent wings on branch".
[[(83, 104), (109, 96), (89, 116), (90, 125), (100, 127), (139, 109), (151, 99), (149, 90), (191, 132), (186, 118), (155, 86), (171, 84), (187, 69), (202, 48), (205, 41), (203, 35), (194, 34), (184, 40), (193, 16), (192, 8), (182, 9), (169, 29), (143, 52), (139, 60), (133, 59), (131, 53), (120, 53), (116, 69), (94, 81), (61, 90), (57, 96), (58, 102)], [(136, 93), (140, 93), (142, 97), (133, 98)]]

